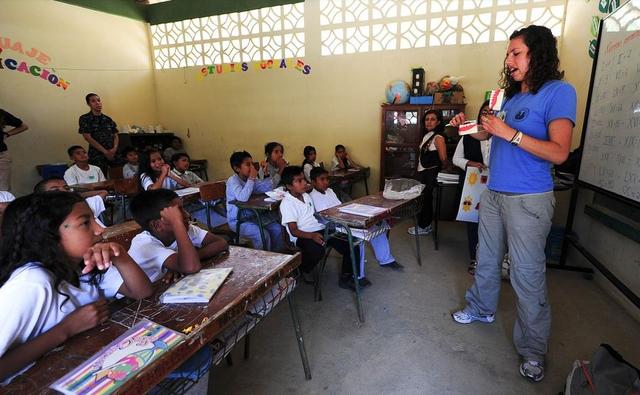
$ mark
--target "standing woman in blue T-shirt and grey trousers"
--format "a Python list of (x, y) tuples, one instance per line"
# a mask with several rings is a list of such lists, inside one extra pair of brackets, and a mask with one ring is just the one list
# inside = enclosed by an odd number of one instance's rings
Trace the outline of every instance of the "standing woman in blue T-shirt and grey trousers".
[[(461, 324), (495, 320), (505, 240), (511, 259), (511, 285), (518, 316), (513, 342), (520, 374), (544, 378), (551, 329), (544, 247), (555, 206), (551, 165), (566, 160), (575, 126), (576, 92), (561, 81), (556, 39), (543, 26), (528, 26), (509, 38), (501, 85), (504, 121), (483, 115), (492, 135), (489, 189), (480, 200), (478, 267), (467, 290), (467, 306), (453, 313)], [(452, 120), (464, 122), (464, 114)]]

